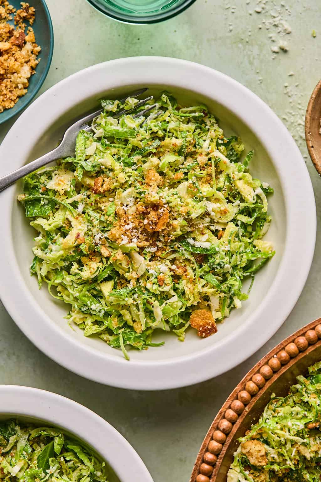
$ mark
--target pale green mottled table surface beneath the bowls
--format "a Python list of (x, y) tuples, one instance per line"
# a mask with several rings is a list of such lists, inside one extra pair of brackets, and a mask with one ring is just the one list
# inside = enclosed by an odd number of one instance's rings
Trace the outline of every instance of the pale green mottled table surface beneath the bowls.
[[(214, 67), (249, 87), (281, 118), (286, 117), (285, 123), (306, 156), (319, 219), (321, 180), (307, 156), (303, 126), (309, 95), (321, 77), (319, 1), (285, 0), (281, 16), (292, 33), (282, 38), (276, 33), (275, 42), (269, 35), (278, 27), (266, 29), (271, 18), (276, 18), (280, 27), (271, 0), (196, 0), (180, 16), (151, 26), (116, 23), (85, 0), (47, 3), (55, 46), (51, 69), (40, 93), (77, 70), (119, 57), (166, 55)], [(291, 12), (286, 9), (290, 3)], [(262, 5), (266, 10), (255, 12)], [(280, 5), (277, 0), (276, 6)], [(313, 29), (316, 38), (311, 35)], [(289, 51), (273, 55), (271, 47), (278, 45), (279, 38), (287, 41)], [(294, 75), (289, 76), (291, 72)], [(0, 140), (12, 123), (0, 126)], [(306, 287), (277, 334), (230, 372), (193, 387), (161, 392), (104, 387), (68, 372), (35, 348), (1, 307), (0, 384), (44, 388), (86, 405), (128, 439), (155, 482), (188, 481), (209, 424), (241, 377), (284, 337), (321, 316), (320, 281), (319, 229)]]

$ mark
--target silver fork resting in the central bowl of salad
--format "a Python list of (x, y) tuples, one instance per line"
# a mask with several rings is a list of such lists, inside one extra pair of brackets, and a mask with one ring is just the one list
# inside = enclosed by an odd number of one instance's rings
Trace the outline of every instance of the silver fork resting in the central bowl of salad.
[[(141, 94), (144, 94), (148, 88), (141, 89), (137, 92), (133, 92), (132, 94), (128, 94), (126, 97), (120, 100), (120, 103), (124, 103), (125, 100), (128, 97), (139, 97)], [(135, 104), (134, 107), (131, 109), (122, 109), (113, 116), (114, 119), (119, 119), (123, 114), (129, 114), (130, 112), (136, 110), (138, 107), (144, 106), (149, 102), (150, 100), (153, 99), (153, 96), (151, 95), (150, 97), (146, 97), (145, 99), (140, 100)], [(157, 107), (157, 104), (153, 104), (152, 106), (146, 107), (146, 109), (140, 110), (137, 114), (135, 114), (133, 117), (138, 118), (140, 116), (143, 116), (147, 114), (150, 110), (152, 110), (154, 107)], [(53, 149), (52, 151), (48, 152), (47, 154), (44, 154), (43, 156), (39, 157), (35, 161), (31, 161), (28, 164), (26, 164), (23, 167), (20, 167), (16, 171), (13, 171), (10, 174), (6, 174), (3, 177), (0, 177), (0, 191), (5, 189), (6, 187), (11, 186), (15, 181), (18, 179), (21, 179), (21, 177), (26, 176), (27, 174), (32, 173), (33, 171), (37, 171), (42, 166), (45, 166), (46, 164), (49, 164), (52, 161), (57, 161), (57, 159), (62, 159), (64, 157), (72, 157), (75, 154), (75, 144), (76, 144), (76, 137), (80, 129), (83, 129), (87, 132), (91, 130), (91, 126), (89, 125), (89, 122), (91, 122), (95, 117), (99, 116), (99, 114), (103, 112), (103, 109), (96, 110), (96, 112), (93, 112), (92, 114), (89, 114), (88, 116), (77, 120), (73, 125), (68, 127), (66, 132), (64, 133), (63, 140), (59, 144), (58, 147)], [(158, 112), (157, 112), (158, 114)]]

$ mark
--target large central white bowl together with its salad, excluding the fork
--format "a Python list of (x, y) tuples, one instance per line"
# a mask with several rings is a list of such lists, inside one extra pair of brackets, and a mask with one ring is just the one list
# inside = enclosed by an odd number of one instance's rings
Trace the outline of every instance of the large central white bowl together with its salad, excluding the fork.
[[(114, 119), (136, 102), (115, 99), (141, 87), (154, 109)], [(102, 383), (160, 389), (218, 375), (275, 333), (306, 281), (316, 215), (302, 156), (239, 83), (142, 57), (43, 94), (2, 143), (1, 174), (49, 151), (102, 98), (73, 157), (1, 193), (3, 303), (47, 355)]]

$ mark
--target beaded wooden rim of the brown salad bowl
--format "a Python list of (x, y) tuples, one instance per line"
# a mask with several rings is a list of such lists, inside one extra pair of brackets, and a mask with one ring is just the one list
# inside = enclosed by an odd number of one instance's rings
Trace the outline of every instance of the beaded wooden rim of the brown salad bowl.
[(261, 388), (268, 388), (299, 358), (319, 346), (321, 318), (312, 321), (279, 343), (244, 376), (210, 426), (196, 458), (190, 482), (216, 480), (233, 432), (260, 397)]

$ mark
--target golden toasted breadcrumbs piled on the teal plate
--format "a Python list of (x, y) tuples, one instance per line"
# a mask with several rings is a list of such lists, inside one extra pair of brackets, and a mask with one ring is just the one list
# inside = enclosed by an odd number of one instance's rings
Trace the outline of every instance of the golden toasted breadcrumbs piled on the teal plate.
[(19, 97), (26, 94), (29, 78), (39, 64), (41, 47), (36, 43), (33, 29), (35, 9), (22, 2), (14, 15), (16, 28), (8, 23), (15, 9), (7, 0), (0, 0), (0, 112), (10, 109)]

